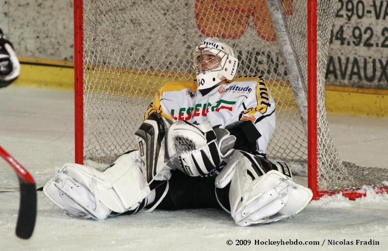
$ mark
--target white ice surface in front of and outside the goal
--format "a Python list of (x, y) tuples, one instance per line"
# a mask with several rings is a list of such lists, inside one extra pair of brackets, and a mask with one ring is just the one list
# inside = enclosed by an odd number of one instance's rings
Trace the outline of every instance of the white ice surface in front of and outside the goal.
[[(38, 186), (64, 163), (74, 161), (73, 100), (69, 91), (19, 86), (0, 90), (0, 144), (30, 170)], [(343, 160), (387, 167), (387, 118), (330, 115), (329, 122)], [(0, 187), (16, 186), (13, 170), (0, 160)], [(38, 192), (38, 217), (30, 240), (15, 235), (19, 193), (0, 192), (0, 251), (388, 250), (388, 195), (364, 189), (368, 196), (363, 199), (327, 197), (311, 202), (295, 218), (245, 228), (215, 209), (156, 210), (100, 222), (70, 218)], [(251, 245), (235, 246), (236, 239), (249, 239)], [(254, 245), (255, 240), (289, 239), (320, 244)], [(379, 245), (328, 244), (356, 239), (372, 239)]]

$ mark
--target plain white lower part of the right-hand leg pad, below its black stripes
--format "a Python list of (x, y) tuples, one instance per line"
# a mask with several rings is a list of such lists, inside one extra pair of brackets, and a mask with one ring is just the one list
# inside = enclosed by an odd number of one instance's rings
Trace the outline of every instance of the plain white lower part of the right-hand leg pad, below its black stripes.
[(229, 190), (231, 216), (239, 226), (292, 217), (306, 207), (311, 197), (310, 189), (276, 170), (252, 181), (246, 169), (239, 168)]

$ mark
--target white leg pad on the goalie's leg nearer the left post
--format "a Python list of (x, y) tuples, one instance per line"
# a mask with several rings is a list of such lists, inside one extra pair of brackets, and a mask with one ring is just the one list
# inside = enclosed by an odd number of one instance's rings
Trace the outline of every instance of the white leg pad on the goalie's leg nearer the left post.
[[(123, 213), (136, 208), (150, 194), (149, 186), (145, 184), (143, 179), (139, 151), (131, 151), (120, 156), (104, 172), (72, 163), (61, 167), (58, 174), (45, 185), (44, 190), (46, 190), (45, 194), (50, 200), (66, 211), (64, 200), (52, 191), (54, 187), (58, 188), (59, 183), (55, 185), (55, 181), (63, 178), (62, 174), (68, 176), (76, 184), (86, 188), (87, 190), (85, 191), (89, 191), (93, 195), (94, 201), (97, 201), (95, 202), (96, 204), (101, 202), (104, 206), (117, 213)], [(65, 186), (62, 185), (60, 187)], [(85, 206), (85, 203), (86, 205), (90, 204), (93, 198), (89, 200), (91, 197), (85, 191), (83, 191), (83, 197), (72, 194), (72, 191), (75, 190), (57, 189), (57, 193), (67, 192), (67, 197), (73, 199), (82, 208), (88, 209), (89, 207)], [(80, 192), (81, 188), (77, 191)]]

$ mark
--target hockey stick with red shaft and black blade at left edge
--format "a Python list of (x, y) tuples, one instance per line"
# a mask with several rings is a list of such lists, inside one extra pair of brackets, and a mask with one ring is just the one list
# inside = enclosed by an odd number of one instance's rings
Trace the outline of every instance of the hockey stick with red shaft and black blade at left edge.
[(36, 219), (36, 189), (31, 174), (0, 146), (0, 155), (16, 171), (20, 184), (20, 206), (17, 216), (16, 235), (23, 239), (31, 237)]

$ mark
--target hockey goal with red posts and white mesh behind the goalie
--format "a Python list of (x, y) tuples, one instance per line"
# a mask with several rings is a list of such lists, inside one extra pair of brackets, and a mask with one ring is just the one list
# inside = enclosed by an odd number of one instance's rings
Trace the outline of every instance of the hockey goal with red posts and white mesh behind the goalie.
[(158, 89), (194, 78), (194, 46), (219, 37), (237, 54), (237, 75), (262, 75), (269, 84), (277, 115), (268, 155), (308, 163), (314, 198), (383, 186), (386, 174), (365, 175), (339, 160), (326, 120), (336, 6), (335, 0), (74, 0), (76, 162), (109, 164), (133, 149), (132, 135)]

